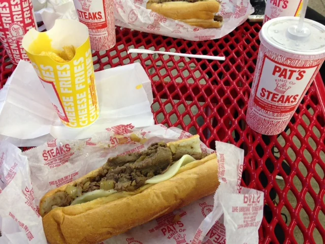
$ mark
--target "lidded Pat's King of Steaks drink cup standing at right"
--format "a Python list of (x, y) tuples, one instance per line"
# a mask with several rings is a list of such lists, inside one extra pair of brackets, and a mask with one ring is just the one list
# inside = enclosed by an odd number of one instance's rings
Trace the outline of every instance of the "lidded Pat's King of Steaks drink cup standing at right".
[(325, 26), (298, 17), (266, 22), (246, 113), (247, 125), (264, 135), (285, 130), (325, 60)]

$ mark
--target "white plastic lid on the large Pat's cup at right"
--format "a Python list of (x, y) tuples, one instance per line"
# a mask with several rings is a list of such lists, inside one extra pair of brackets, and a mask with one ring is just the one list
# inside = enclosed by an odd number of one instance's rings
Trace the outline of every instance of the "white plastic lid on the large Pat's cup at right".
[(303, 31), (297, 33), (299, 17), (271, 19), (262, 27), (262, 36), (272, 46), (295, 54), (325, 54), (325, 26), (305, 19)]

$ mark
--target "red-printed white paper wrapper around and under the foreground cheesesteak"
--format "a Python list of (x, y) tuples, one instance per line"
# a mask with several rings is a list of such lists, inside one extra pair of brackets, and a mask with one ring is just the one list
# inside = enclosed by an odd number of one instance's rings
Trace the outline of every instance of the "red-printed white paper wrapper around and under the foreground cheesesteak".
[[(144, 144), (134, 142), (131, 134), (147, 140), (143, 140)], [(24, 236), (18, 236), (18, 242), (9, 243), (45, 243), (37, 209), (40, 199), (49, 190), (102, 166), (109, 157), (141, 151), (154, 142), (169, 142), (190, 136), (178, 128), (168, 129), (163, 125), (142, 129), (124, 125), (108, 128), (88, 141), (57, 139), (24, 153), (2, 142), (0, 217), (9, 217), (20, 223), (19, 226), (27, 226), (19, 227), (19, 230), (25, 231), (27, 237), (31, 238), (26, 242)], [(203, 151), (213, 153), (203, 143), (201, 147)], [(216, 177), (220, 180), (220, 186), (214, 196), (202, 198), (102, 243), (257, 244), (257, 230), (263, 218), (263, 193), (240, 187), (242, 149), (223, 142), (216, 142), (216, 149), (219, 167)], [(15, 226), (2, 229), (4, 236), (19, 230)]]

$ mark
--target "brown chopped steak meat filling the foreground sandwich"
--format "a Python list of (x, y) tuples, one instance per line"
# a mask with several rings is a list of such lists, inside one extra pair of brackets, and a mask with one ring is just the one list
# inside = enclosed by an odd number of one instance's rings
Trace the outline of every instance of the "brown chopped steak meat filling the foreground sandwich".
[[(192, 153), (192, 148), (178, 147), (175, 152), (165, 142), (151, 144), (147, 150), (140, 153), (109, 158), (106, 164), (99, 169), (99, 173), (91, 178), (84, 179), (78, 187), (82, 194), (101, 189), (120, 191), (135, 191), (145, 185), (147, 179), (164, 173), (173, 162), (183, 155), (189, 154), (194, 159), (202, 159), (207, 154)], [(111, 188), (112, 187), (112, 188)], [(64, 194), (67, 197), (67, 194)], [(70, 205), (71, 197), (67, 197), (64, 205)]]

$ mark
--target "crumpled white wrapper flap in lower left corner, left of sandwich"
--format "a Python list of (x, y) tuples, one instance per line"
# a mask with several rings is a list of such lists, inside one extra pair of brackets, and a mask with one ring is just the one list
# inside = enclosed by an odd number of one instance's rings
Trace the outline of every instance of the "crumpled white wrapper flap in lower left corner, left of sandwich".
[(5, 141), (0, 141), (0, 220), (0, 243), (46, 243), (28, 159)]

